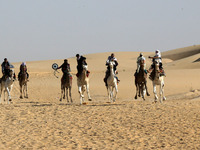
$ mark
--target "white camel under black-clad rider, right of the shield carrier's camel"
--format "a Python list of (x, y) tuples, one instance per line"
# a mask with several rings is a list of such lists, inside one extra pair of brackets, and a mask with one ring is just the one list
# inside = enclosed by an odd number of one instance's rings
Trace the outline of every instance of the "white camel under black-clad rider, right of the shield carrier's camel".
[(89, 91), (89, 78), (87, 77), (87, 65), (82, 65), (83, 71), (77, 77), (78, 92), (80, 94), (80, 104), (84, 102), (84, 92), (87, 91), (88, 100), (91, 101), (90, 91)]

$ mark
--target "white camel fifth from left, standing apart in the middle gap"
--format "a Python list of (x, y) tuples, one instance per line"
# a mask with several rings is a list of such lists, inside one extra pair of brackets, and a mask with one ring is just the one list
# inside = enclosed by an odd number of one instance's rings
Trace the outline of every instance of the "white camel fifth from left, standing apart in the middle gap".
[[(109, 67), (110, 67), (110, 76), (107, 79), (107, 91), (108, 91), (108, 100), (110, 100), (110, 102), (115, 102), (116, 98), (117, 98), (117, 92), (118, 92), (118, 88), (117, 88), (117, 79), (115, 77), (115, 73), (114, 73), (114, 61), (110, 61), (109, 63)], [(114, 89), (115, 89), (115, 94), (114, 94)]]

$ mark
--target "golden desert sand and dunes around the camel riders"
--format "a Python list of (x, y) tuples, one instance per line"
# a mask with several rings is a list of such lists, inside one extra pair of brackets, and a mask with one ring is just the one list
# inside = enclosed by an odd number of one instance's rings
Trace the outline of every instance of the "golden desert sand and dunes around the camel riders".
[[(79, 104), (75, 57), (68, 58), (73, 103), (59, 101), (62, 73), (59, 70), (56, 78), (51, 68), (63, 60), (26, 62), (29, 98), (19, 98), (15, 81), (12, 104), (0, 105), (0, 149), (200, 149), (199, 50), (200, 45), (195, 45), (162, 53), (167, 98), (163, 104), (153, 103), (149, 79), (151, 96), (145, 101), (134, 99), (134, 72), (140, 52), (115, 52), (120, 79), (115, 103), (107, 103), (103, 82), (105, 61), (111, 53), (85, 55), (92, 97), (90, 102), (86, 95), (86, 105)], [(148, 56), (154, 53), (144, 55), (148, 68)], [(20, 62), (13, 65), (18, 74)]]

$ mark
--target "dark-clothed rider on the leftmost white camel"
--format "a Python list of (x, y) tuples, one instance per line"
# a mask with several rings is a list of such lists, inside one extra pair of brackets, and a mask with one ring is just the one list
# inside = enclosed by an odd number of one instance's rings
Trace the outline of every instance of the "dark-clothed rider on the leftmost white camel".
[[(10, 77), (10, 67), (11, 64), (9, 63), (9, 61), (7, 60), (7, 58), (4, 58), (3, 63), (1, 64), (2, 67), (2, 80), (6, 80), (6, 77)], [(15, 74), (14, 74), (14, 79), (16, 78)]]

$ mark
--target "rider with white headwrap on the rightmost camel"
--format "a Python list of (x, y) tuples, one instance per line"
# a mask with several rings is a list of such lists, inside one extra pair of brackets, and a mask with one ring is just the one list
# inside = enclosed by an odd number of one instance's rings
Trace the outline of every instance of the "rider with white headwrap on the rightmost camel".
[[(162, 65), (162, 58), (161, 58), (160, 51), (156, 50), (155, 51), (155, 56), (153, 56), (153, 57), (149, 56), (149, 58), (152, 59), (153, 64), (149, 68), (148, 72), (152, 72), (152, 70), (155, 69), (154, 61), (157, 61), (159, 63), (159, 69), (160, 69), (161, 75), (165, 76), (165, 72), (164, 72), (163, 65)], [(150, 74), (150, 79), (153, 79), (152, 78), (152, 74)]]

